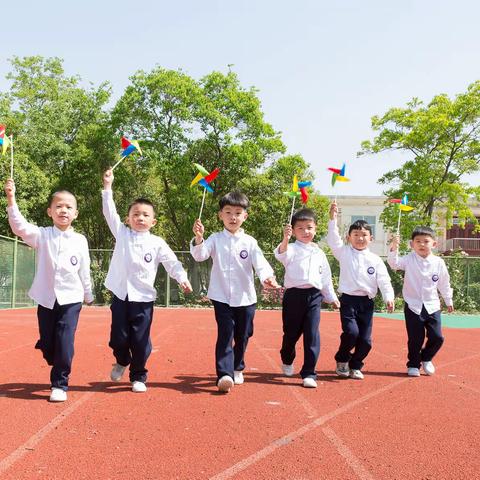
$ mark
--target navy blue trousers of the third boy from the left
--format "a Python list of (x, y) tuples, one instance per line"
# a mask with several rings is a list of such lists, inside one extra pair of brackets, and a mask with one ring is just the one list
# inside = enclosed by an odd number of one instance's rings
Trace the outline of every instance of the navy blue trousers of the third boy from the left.
[(248, 339), (253, 335), (253, 317), (256, 304), (231, 307), (212, 300), (217, 322), (215, 365), (217, 379), (224, 375), (233, 378), (233, 371), (245, 368), (245, 351)]

